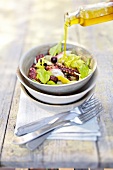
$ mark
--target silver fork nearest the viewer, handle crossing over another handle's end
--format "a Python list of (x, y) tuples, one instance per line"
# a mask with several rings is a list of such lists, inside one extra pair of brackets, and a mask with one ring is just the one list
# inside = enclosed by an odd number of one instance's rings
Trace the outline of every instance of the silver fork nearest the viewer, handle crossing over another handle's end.
[(102, 111), (102, 105), (101, 103), (98, 101), (98, 104), (95, 105), (95, 107), (91, 108), (91, 110), (88, 110), (87, 112), (75, 116), (73, 119), (71, 120), (62, 120), (62, 121), (56, 121), (52, 124), (50, 124), (49, 126), (44, 126), (41, 129), (38, 129), (32, 133), (28, 133), (26, 135), (23, 135), (21, 137), (15, 137), (15, 139), (13, 140), (13, 143), (21, 145), (21, 144), (25, 144), (33, 139), (36, 139), (37, 137), (40, 137), (42, 135), (44, 135), (47, 132), (50, 132), (56, 128), (62, 127), (64, 125), (71, 125), (72, 123), (76, 123), (76, 124), (83, 124), (85, 122), (87, 122), (88, 120), (92, 119), (94, 116), (96, 116), (100, 111)]

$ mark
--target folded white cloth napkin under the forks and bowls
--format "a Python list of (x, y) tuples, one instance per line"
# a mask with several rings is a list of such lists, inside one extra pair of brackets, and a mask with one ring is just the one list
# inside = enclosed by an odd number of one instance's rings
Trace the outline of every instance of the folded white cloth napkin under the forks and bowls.
[[(62, 106), (61, 106), (62, 107)], [(66, 114), (66, 113), (64, 113)], [(67, 118), (73, 117), (73, 114), (70, 113)], [(60, 116), (59, 114), (56, 114), (53, 112), (49, 112), (43, 108), (40, 108), (38, 104), (34, 103), (30, 98), (28, 98), (25, 93), (21, 90), (20, 95), (20, 103), (19, 103), (19, 110), (17, 114), (17, 121), (16, 121), (16, 127), (15, 127), (15, 135), (20, 136), (25, 133), (29, 133), (31, 131), (31, 128), (29, 126), (25, 126), (27, 124), (32, 124), (33, 129), (35, 130), (37, 126), (41, 126), (43, 124), (46, 124), (46, 121), (48, 121), (50, 116)], [(43, 119), (45, 118), (45, 121)], [(39, 122), (38, 125), (35, 124), (35, 122)], [(22, 128), (23, 127), (23, 128)], [(47, 139), (65, 139), (65, 140), (90, 140), (90, 141), (96, 141), (97, 137), (100, 136), (100, 128), (98, 125), (97, 118), (94, 117), (90, 121), (86, 122), (83, 125), (71, 125), (62, 127), (59, 129), (54, 130), (51, 135)]]

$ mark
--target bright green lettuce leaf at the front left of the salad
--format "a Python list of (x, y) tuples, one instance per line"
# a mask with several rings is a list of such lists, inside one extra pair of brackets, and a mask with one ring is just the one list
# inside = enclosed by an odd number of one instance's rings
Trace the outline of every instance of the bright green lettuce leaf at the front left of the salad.
[(37, 78), (43, 83), (46, 84), (52, 73), (50, 71), (46, 71), (44, 68), (40, 68), (37, 70)]

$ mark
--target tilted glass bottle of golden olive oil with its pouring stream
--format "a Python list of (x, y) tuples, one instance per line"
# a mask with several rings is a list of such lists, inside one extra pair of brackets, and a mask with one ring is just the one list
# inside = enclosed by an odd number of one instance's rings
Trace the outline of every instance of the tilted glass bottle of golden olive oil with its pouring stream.
[(102, 2), (80, 7), (77, 11), (65, 14), (64, 23), (64, 56), (66, 55), (66, 40), (68, 27), (80, 24), (90, 26), (113, 20), (113, 2)]

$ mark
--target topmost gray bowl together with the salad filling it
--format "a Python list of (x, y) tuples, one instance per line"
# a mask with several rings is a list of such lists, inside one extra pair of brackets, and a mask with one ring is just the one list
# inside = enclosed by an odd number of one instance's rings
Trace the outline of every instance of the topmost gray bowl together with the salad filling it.
[(97, 62), (85, 48), (53, 43), (36, 46), (24, 54), (19, 69), (37, 90), (47, 94), (72, 94), (92, 77)]

